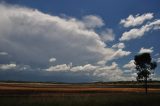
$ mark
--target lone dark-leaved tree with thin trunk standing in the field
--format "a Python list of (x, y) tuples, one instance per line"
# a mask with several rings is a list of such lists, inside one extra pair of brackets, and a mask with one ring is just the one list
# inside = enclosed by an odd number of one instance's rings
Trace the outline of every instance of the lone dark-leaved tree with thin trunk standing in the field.
[(149, 75), (151, 74), (151, 71), (154, 70), (157, 67), (156, 62), (152, 62), (152, 58), (150, 56), (150, 53), (142, 53), (139, 55), (136, 55), (134, 57), (136, 70), (137, 70), (137, 81), (144, 81), (145, 84), (145, 91), (147, 94), (147, 78), (149, 78)]

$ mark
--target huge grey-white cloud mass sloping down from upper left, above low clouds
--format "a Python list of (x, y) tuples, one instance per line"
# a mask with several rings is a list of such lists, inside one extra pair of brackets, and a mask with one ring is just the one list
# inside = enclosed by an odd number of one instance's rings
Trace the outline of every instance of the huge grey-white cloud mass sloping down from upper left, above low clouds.
[[(84, 16), (82, 20), (61, 18), (4, 4), (0, 5), (0, 13), (0, 49), (9, 52), (18, 63), (45, 67), (53, 55), (57, 64), (75, 65), (115, 58), (117, 50), (107, 47), (95, 30), (104, 24), (98, 16)], [(126, 56), (120, 52), (116, 58)]]

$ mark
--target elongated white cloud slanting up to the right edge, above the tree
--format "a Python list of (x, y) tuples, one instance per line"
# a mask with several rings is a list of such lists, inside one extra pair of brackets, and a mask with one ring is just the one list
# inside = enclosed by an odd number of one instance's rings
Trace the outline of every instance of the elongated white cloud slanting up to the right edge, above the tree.
[(141, 28), (133, 28), (127, 32), (122, 34), (122, 37), (119, 39), (120, 41), (128, 41), (131, 39), (136, 39), (144, 36), (146, 32), (151, 30), (158, 30), (160, 29), (160, 20), (155, 20), (153, 22), (147, 23), (143, 25)]

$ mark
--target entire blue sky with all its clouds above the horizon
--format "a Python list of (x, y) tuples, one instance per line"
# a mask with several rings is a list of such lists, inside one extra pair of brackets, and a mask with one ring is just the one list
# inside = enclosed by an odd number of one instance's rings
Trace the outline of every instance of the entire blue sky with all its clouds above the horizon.
[(0, 80), (132, 81), (150, 53), (160, 80), (160, 1), (0, 0)]

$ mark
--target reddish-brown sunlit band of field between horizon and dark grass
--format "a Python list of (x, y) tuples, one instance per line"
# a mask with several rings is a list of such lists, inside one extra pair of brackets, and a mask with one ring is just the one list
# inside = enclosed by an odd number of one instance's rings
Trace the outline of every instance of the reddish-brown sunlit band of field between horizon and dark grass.
[[(143, 87), (143, 85), (141, 85)], [(127, 85), (97, 84), (46, 84), (46, 83), (0, 83), (2, 94), (54, 94), (54, 93), (142, 93), (144, 88)], [(160, 88), (148, 88), (150, 93), (160, 93)]]

